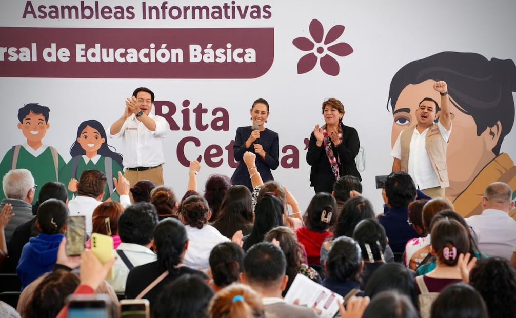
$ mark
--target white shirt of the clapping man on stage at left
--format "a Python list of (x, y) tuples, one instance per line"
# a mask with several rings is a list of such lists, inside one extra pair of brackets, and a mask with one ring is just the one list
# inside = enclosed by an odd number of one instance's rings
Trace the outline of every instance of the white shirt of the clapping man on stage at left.
[(152, 114), (149, 118), (156, 122), (155, 131), (150, 131), (133, 114), (125, 120), (118, 134), (109, 135), (111, 138), (122, 137), (124, 168), (154, 167), (165, 163), (163, 138), (168, 131), (167, 121)]

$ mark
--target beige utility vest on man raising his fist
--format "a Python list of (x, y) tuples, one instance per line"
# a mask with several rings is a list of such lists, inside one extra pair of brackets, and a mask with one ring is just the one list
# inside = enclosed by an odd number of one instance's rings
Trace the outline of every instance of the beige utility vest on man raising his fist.
[[(400, 145), (401, 145), (401, 171), (409, 172), (409, 155), (410, 155), (410, 140), (414, 134), (416, 125), (407, 128), (401, 132)], [(448, 180), (448, 166), (446, 164), (446, 148), (448, 143), (444, 141), (441, 136), (441, 132), (434, 123), (430, 130), (426, 133), (425, 148), (432, 163), (433, 171), (436, 171), (439, 184), (442, 188), (449, 187), (450, 182)]]

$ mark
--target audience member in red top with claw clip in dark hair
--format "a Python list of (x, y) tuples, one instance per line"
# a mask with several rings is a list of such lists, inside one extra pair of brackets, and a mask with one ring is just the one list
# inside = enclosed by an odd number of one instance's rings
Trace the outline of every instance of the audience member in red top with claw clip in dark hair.
[(307, 251), (308, 264), (320, 264), (322, 242), (333, 236), (328, 229), (336, 219), (337, 202), (328, 193), (317, 193), (303, 216), (303, 227), (296, 231), (299, 243)]

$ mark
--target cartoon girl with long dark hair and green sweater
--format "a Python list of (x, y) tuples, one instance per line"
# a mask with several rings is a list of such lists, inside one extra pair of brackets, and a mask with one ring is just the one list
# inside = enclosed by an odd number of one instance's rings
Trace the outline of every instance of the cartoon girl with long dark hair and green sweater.
[(115, 189), (113, 178), (118, 178), (119, 171), (123, 172), (122, 155), (107, 144), (106, 131), (99, 121), (90, 119), (79, 124), (77, 137), (70, 147), (70, 155), (72, 158), (59, 176), (59, 181), (68, 185), (69, 198), (76, 191), (80, 174), (88, 169), (104, 172), (107, 184), (102, 200), (109, 198)]

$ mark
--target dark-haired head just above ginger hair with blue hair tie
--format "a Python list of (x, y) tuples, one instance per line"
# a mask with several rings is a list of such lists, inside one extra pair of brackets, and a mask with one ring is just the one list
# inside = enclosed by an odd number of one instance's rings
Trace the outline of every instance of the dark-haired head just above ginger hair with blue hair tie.
[(209, 253), (209, 268), (218, 287), (226, 287), (240, 280), (240, 273), (244, 271), (244, 256), (244, 249), (236, 243), (223, 242), (215, 245)]

